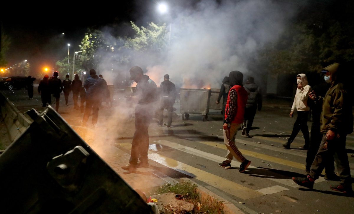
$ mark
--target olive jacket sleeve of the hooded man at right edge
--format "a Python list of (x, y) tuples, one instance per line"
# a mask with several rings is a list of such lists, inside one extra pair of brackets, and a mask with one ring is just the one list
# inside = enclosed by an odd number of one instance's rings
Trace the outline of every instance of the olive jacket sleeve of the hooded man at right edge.
[(338, 90), (335, 91), (335, 93), (333, 93), (332, 95), (334, 111), (329, 126), (330, 126), (330, 130), (332, 130), (335, 133), (338, 133), (337, 130), (338, 128), (341, 127), (341, 125), (346, 124), (345, 118), (343, 118), (345, 115), (345, 112), (343, 110), (343, 102), (345, 96), (344, 94), (345, 94), (344, 90)]

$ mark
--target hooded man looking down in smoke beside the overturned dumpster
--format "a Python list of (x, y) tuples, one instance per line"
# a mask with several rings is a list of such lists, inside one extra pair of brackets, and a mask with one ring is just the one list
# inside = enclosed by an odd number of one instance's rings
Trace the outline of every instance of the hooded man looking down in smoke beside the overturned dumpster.
[(138, 167), (149, 167), (148, 149), (149, 133), (148, 128), (155, 109), (157, 99), (157, 86), (143, 70), (134, 66), (130, 69), (130, 80), (137, 82), (135, 96), (137, 100), (135, 107), (135, 133), (133, 136), (132, 148), (129, 163), (121, 168), (133, 171)]

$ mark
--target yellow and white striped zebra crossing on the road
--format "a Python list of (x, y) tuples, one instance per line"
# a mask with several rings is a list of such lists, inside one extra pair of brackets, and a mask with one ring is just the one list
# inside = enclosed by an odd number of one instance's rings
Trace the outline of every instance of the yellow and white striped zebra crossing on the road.
[[(271, 140), (274, 143), (280, 143), (283, 141), (280, 141), (278, 139), (269, 139), (266, 137), (264, 139), (261, 136), (254, 136), (255, 139), (259, 140)], [(184, 139), (184, 141), (187, 141), (184, 144), (190, 144), (189, 142), (193, 143), (198, 143), (200, 145), (205, 145), (209, 147), (214, 147), (215, 149), (223, 149), (225, 150), (226, 154), (226, 147), (223, 145), (223, 143), (220, 142), (214, 142), (214, 141), (208, 141), (201, 139), (199, 137), (191, 137)], [(188, 142), (189, 141), (189, 142)], [(278, 142), (279, 141), (279, 142)], [(294, 150), (284, 150), (281, 147), (271, 147), (269, 145), (265, 144), (259, 144), (247, 140), (242, 140), (242, 139), (237, 139), (237, 146), (239, 147), (240, 151), (242, 154), (244, 154), (246, 157), (251, 157), (251, 160), (253, 159), (259, 159), (262, 160), (262, 163), (264, 161), (269, 162), (269, 163), (275, 163), (277, 165), (282, 165), (285, 167), (291, 167), (294, 169), (298, 169), (299, 172), (303, 173), (305, 170), (305, 165), (304, 165), (304, 159), (306, 158), (306, 153), (296, 151)], [(240, 143), (243, 145), (252, 145), (253, 147), (258, 147), (260, 149), (271, 149), (272, 151), (275, 152), (281, 152), (281, 153), (287, 153), (291, 155), (296, 155), (298, 157), (302, 157), (303, 163), (298, 163), (296, 161), (291, 161), (288, 159), (283, 159), (280, 157), (275, 157), (272, 155), (267, 155), (263, 154), (260, 152), (256, 151), (251, 151), (249, 149), (243, 149), (240, 146)], [(125, 147), (125, 149), (130, 149), (131, 144), (130, 143), (121, 143), (119, 145), (120, 147)], [(225, 158), (221, 155), (217, 154), (212, 154), (209, 152), (204, 152), (201, 151), (197, 148), (193, 148), (190, 146), (183, 145), (182, 143), (177, 143), (177, 142), (172, 142), (170, 140), (153, 140), (150, 142), (149, 145), (149, 152), (148, 152), (148, 158), (152, 161), (155, 161), (156, 163), (159, 163), (165, 167), (168, 167), (170, 169), (173, 169), (177, 172), (183, 173), (184, 175), (188, 177), (192, 177), (195, 179), (198, 179), (201, 182), (206, 183), (207, 185), (211, 186), (212, 188), (219, 189), (221, 191), (227, 192), (230, 195), (233, 195), (235, 197), (241, 198), (242, 200), (247, 200), (251, 198), (256, 198), (256, 197), (261, 197), (267, 194), (274, 194), (276, 192), (281, 192), (281, 191), (287, 191), (291, 188), (298, 188), (299, 186), (295, 184), (289, 177), (288, 178), (275, 178), (275, 177), (269, 177), (269, 176), (263, 176), (263, 175), (258, 175), (259, 182), (262, 183), (262, 179), (267, 179), (271, 183), (267, 183), (263, 188), (250, 188), (247, 187), (246, 185), (235, 182), (235, 181), (230, 181), (227, 178), (224, 178), (220, 175), (215, 175), (215, 173), (210, 173), (207, 172), (206, 170), (197, 168), (195, 166), (191, 166), (191, 164), (183, 163), (184, 161), (181, 160), (175, 160), (173, 158), (167, 157), (164, 155), (164, 152), (160, 152), (159, 149), (157, 148), (169, 148), (173, 151), (179, 151), (185, 153), (185, 155), (189, 155), (190, 157), (196, 157), (196, 158), (204, 158), (210, 161), (213, 161), (215, 165), (217, 163), (221, 163)], [(238, 168), (240, 163), (236, 160), (232, 161), (231, 166), (234, 168)], [(351, 165), (351, 168), (353, 166)], [(257, 167), (256, 165), (251, 164), (249, 166), (249, 169), (259, 169), (260, 167)], [(291, 169), (289, 170), (291, 171)], [(353, 171), (353, 170), (352, 170)], [(234, 173), (234, 172), (232, 172)], [(239, 175), (238, 175), (239, 176)], [(247, 176), (247, 175), (246, 175)], [(279, 176), (281, 177), (281, 176)], [(284, 176), (283, 176), (284, 177)], [(325, 179), (323, 177), (320, 177), (319, 179), (316, 180), (316, 183), (323, 182)], [(272, 184), (269, 186), (269, 184)]]

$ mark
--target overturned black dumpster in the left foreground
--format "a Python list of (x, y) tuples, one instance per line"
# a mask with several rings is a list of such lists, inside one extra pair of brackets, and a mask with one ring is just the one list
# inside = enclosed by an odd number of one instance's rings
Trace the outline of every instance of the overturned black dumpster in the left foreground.
[(51, 106), (0, 155), (1, 213), (151, 213)]

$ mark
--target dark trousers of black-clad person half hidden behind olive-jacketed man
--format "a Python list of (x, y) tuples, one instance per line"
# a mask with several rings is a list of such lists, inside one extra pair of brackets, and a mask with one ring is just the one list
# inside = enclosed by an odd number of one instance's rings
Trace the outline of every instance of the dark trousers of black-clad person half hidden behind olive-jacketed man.
[[(323, 134), (321, 134), (320, 132), (320, 128), (321, 128), (321, 124), (319, 118), (314, 117), (311, 125), (310, 143), (306, 154), (306, 170), (308, 171), (310, 171), (310, 167), (313, 163), (313, 160), (316, 157), (316, 154), (318, 152), (323, 137)], [(332, 174), (334, 172), (333, 156), (328, 157), (328, 161), (327, 164), (325, 165), (325, 169), (326, 169), (325, 170), (326, 174)]]

